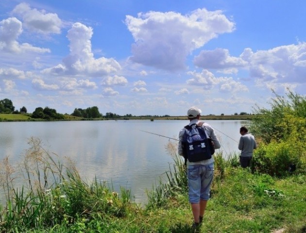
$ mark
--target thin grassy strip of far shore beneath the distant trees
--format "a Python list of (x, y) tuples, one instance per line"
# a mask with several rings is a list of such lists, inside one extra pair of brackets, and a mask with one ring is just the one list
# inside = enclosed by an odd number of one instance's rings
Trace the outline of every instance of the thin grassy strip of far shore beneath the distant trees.
[[(226, 116), (201, 116), (202, 120), (251, 120), (253, 115), (226, 115)], [(186, 120), (187, 116), (131, 116), (131, 117), (116, 117), (116, 118), (83, 118), (78, 116), (64, 115), (65, 120)], [(0, 121), (50, 121), (44, 119), (31, 118), (31, 114), (0, 114)], [(58, 120), (57, 120), (58, 121)]]

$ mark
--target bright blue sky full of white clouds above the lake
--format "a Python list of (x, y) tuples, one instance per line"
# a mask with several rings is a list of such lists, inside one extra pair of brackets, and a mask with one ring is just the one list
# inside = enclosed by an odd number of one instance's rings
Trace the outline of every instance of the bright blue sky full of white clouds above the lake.
[(0, 100), (29, 113), (254, 113), (306, 94), (304, 0), (0, 0)]

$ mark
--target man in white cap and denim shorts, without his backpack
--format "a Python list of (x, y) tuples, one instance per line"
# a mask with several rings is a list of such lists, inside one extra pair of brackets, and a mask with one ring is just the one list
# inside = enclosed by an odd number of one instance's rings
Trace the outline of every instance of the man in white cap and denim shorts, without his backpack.
[[(197, 107), (191, 107), (187, 111), (187, 116), (190, 120), (189, 126), (194, 124), (201, 125), (201, 113), (201, 109)], [(207, 123), (203, 123), (201, 127), (204, 128), (206, 136), (212, 139), (215, 149), (219, 149), (221, 144), (214, 133), (213, 128)], [(187, 133), (186, 128), (183, 128), (179, 133), (178, 153), (181, 156), (184, 156), (182, 140), (185, 133)], [(192, 225), (193, 228), (199, 226), (203, 221), (207, 200), (209, 200), (210, 184), (213, 180), (213, 174), (213, 157), (199, 162), (189, 162), (187, 160), (188, 197), (194, 218), (194, 223)]]

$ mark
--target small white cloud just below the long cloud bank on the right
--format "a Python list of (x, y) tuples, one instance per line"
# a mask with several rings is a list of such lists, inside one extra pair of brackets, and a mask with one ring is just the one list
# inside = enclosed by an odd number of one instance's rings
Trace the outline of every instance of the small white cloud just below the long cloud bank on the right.
[(191, 79), (187, 80), (187, 84), (203, 86), (204, 89), (212, 89), (218, 86), (221, 92), (249, 91), (244, 84), (235, 81), (232, 77), (217, 78), (206, 69), (202, 70), (201, 73), (189, 71), (187, 74), (192, 76)]

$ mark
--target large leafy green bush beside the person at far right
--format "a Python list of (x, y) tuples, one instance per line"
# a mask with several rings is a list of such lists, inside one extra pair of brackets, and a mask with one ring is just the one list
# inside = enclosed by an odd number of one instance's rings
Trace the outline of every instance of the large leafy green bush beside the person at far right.
[(278, 177), (306, 172), (306, 97), (291, 91), (275, 96), (271, 110), (257, 108), (249, 126), (261, 142), (252, 170)]

